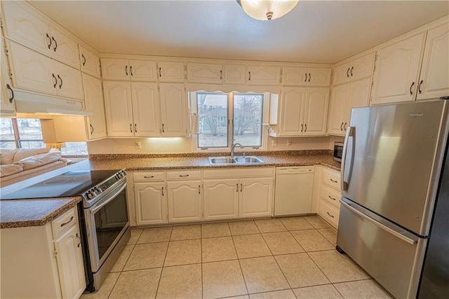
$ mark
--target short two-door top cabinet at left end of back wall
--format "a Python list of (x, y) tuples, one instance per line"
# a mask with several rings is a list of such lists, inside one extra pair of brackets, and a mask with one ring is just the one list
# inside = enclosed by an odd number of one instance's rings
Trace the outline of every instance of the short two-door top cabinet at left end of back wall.
[(152, 60), (102, 58), (101, 69), (105, 80), (157, 81), (156, 62)]

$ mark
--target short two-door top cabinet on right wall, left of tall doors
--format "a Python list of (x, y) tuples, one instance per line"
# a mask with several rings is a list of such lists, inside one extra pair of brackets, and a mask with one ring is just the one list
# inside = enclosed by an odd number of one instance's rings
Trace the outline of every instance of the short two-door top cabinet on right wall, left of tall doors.
[(374, 52), (335, 67), (333, 85), (349, 83), (373, 74)]

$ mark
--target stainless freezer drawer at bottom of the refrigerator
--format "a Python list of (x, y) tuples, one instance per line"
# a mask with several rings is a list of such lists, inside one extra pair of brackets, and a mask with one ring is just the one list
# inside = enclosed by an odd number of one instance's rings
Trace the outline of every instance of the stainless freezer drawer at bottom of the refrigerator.
[(345, 200), (340, 206), (337, 246), (394, 297), (415, 298), (427, 239)]

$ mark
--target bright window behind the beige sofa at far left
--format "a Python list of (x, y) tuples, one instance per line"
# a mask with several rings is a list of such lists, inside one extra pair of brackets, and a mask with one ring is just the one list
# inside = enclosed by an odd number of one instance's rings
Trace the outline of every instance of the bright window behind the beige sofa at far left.
[[(44, 148), (39, 118), (0, 118), (0, 148)], [(63, 156), (88, 155), (86, 142), (65, 142)]]

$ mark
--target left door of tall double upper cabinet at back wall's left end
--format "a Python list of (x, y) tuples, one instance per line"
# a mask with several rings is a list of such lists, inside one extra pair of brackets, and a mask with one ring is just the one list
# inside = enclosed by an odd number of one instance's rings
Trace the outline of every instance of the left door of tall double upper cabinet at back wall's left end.
[(133, 104), (128, 82), (103, 81), (107, 136), (133, 137)]

